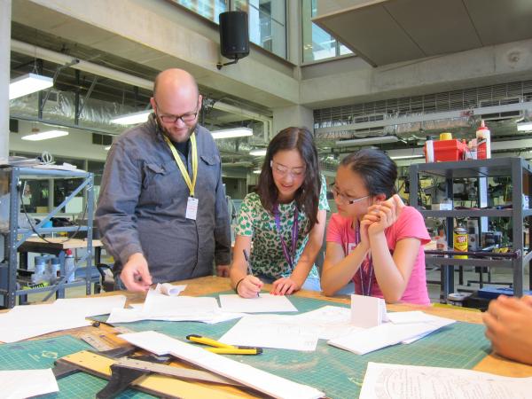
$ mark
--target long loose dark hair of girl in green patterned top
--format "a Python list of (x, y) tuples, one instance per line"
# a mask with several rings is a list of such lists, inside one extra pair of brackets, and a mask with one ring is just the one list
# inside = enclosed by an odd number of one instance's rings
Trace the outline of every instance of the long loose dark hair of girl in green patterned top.
[(317, 223), (317, 206), (321, 190), (321, 175), (314, 138), (306, 128), (286, 128), (273, 137), (268, 145), (266, 157), (262, 164), (261, 176), (257, 192), (262, 207), (273, 214), (273, 207), (278, 202), (278, 188), (273, 181), (270, 162), (279, 151), (297, 150), (305, 161), (305, 180), (295, 192), (294, 200), (297, 208), (309, 217), (308, 231)]

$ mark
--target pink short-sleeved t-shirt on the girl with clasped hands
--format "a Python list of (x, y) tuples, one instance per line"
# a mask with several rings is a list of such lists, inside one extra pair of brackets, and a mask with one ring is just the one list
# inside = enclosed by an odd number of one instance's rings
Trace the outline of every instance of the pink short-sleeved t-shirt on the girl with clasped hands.
[[(430, 242), (430, 236), (426, 231), (423, 216), (414, 207), (404, 207), (397, 221), (388, 227), (384, 234), (391, 254), (394, 253), (395, 244), (401, 239), (413, 238), (421, 241), (419, 253), (411, 272), (411, 278), (404, 290), (401, 301), (428, 305), (430, 300), (426, 291), (425, 252), (423, 246)], [(344, 248), (344, 253), (346, 255), (349, 254), (356, 247), (356, 231), (353, 228), (353, 220), (342, 217), (340, 214), (333, 214), (327, 227), (327, 241), (339, 243)], [(356, 293), (362, 294), (364, 289), (366, 294), (370, 292), (372, 296), (383, 298), (375, 273), (369, 270), (367, 260), (363, 262), (361, 268), (356, 271), (353, 277)], [(362, 279), (361, 270), (364, 275)], [(369, 290), (370, 275), (372, 276), (371, 290)], [(364, 288), (362, 283), (364, 283)]]

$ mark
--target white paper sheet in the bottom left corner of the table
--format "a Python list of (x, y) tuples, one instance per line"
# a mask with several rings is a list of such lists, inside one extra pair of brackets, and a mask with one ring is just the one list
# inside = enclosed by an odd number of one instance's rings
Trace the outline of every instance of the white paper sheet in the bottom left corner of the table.
[(22, 399), (59, 392), (58, 382), (51, 369), (1, 371), (0, 389), (4, 399)]

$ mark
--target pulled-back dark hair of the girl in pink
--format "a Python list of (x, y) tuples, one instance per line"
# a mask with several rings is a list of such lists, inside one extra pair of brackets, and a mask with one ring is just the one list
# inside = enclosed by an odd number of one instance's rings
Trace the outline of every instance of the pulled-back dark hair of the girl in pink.
[(356, 172), (364, 180), (366, 190), (372, 197), (385, 194), (388, 199), (395, 194), (397, 166), (386, 153), (366, 148), (350, 153), (341, 160), (340, 165)]

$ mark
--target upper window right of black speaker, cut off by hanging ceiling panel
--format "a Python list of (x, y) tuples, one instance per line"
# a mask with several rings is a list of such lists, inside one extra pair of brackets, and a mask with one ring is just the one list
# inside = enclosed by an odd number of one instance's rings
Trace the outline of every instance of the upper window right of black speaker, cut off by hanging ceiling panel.
[(339, 43), (332, 35), (314, 24), (311, 19), (316, 16), (317, 0), (302, 1), (303, 62), (331, 59), (340, 55), (351, 54), (346, 46)]

